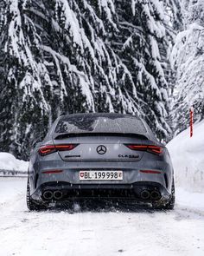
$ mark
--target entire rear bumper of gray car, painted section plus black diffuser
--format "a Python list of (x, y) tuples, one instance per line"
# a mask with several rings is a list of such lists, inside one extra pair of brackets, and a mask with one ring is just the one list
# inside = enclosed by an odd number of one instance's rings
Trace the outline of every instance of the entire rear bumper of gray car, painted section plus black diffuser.
[[(148, 155), (143, 161), (61, 161), (52, 160), (51, 154), (43, 161), (30, 162), (29, 184), (33, 200), (48, 204), (50, 201), (64, 200), (133, 200), (149, 203), (149, 198), (141, 198), (141, 191), (156, 190), (161, 194), (158, 201), (169, 200), (173, 178), (173, 169), (167, 161)], [(61, 169), (58, 174), (43, 174), (48, 170)], [(80, 170), (122, 170), (123, 181), (80, 181)], [(145, 174), (140, 170), (156, 170), (160, 174)], [(61, 200), (45, 200), (42, 193), (60, 190)]]

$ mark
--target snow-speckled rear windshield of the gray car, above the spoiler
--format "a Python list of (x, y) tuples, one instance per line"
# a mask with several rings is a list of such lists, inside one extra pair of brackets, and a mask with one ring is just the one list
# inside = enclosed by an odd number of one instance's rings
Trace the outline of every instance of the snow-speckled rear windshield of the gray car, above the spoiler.
[(61, 117), (55, 133), (146, 134), (143, 122), (125, 115), (67, 115)]

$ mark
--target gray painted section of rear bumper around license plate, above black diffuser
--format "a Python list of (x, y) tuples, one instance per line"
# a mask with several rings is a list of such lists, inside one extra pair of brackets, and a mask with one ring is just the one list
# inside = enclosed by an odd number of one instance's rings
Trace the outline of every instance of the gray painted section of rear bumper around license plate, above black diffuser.
[[(53, 169), (53, 168), (52, 168)], [(61, 169), (61, 168), (60, 168)], [(142, 170), (148, 169), (147, 167), (141, 168)], [(43, 184), (48, 182), (67, 182), (67, 184), (72, 184), (72, 186), (82, 186), (82, 185), (90, 185), (90, 186), (131, 186), (136, 182), (156, 182), (161, 184), (170, 192), (171, 181), (172, 181), (172, 173), (169, 171), (168, 167), (165, 168), (156, 168), (151, 167), (149, 169), (159, 171), (160, 174), (145, 174), (141, 173), (141, 169), (132, 169), (132, 168), (124, 168), (124, 167), (114, 167), (114, 168), (94, 168), (94, 170), (122, 170), (123, 171), (123, 181), (80, 181), (80, 170), (92, 170), (92, 168), (64, 168), (63, 171), (59, 174), (43, 174), (43, 171), (47, 171), (47, 169), (41, 169), (39, 172), (35, 172), (33, 175), (29, 175), (30, 184), (32, 184), (31, 192), (35, 192), (38, 187), (41, 187)]]

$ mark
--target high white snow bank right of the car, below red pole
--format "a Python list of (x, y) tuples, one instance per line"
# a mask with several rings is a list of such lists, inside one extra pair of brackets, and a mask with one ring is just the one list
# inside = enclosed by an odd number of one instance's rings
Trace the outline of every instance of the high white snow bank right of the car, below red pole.
[(194, 125), (194, 135), (189, 128), (177, 135), (167, 145), (175, 169), (175, 184), (188, 191), (204, 192), (204, 121)]

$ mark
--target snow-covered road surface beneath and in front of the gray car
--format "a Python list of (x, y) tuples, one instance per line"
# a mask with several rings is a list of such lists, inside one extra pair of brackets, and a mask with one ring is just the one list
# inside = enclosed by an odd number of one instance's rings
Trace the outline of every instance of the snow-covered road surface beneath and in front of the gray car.
[(204, 194), (177, 189), (169, 212), (70, 214), (30, 213), (25, 191), (26, 178), (0, 178), (1, 256), (204, 255)]

